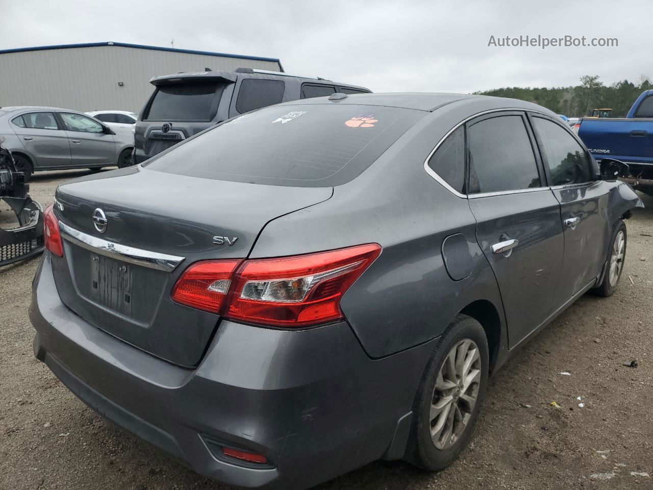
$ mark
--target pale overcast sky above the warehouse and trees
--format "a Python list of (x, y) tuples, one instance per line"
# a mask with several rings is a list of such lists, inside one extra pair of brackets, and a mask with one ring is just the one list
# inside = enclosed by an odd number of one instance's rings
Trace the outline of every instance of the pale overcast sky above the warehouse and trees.
[[(653, 78), (653, 2), (0, 0), (0, 49), (117, 41), (278, 57), (374, 91), (471, 92)], [(618, 47), (488, 47), (490, 36), (616, 37)], [(1, 69), (1, 67), (0, 67)]]

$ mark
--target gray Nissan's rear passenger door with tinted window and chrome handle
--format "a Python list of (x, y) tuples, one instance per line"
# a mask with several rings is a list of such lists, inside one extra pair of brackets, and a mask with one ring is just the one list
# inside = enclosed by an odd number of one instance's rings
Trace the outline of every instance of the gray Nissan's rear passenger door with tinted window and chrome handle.
[(512, 348), (554, 310), (564, 252), (560, 204), (545, 184), (524, 114), (488, 114), (466, 133), (477, 241), (499, 284)]

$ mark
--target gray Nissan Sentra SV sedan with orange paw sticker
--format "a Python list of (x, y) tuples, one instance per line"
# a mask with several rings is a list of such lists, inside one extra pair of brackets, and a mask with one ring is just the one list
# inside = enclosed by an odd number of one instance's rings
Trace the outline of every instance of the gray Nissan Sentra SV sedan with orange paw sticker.
[(238, 487), (470, 440), (488, 374), (587, 291), (642, 206), (532, 103), (336, 93), (59, 186), (34, 351), (94, 410)]

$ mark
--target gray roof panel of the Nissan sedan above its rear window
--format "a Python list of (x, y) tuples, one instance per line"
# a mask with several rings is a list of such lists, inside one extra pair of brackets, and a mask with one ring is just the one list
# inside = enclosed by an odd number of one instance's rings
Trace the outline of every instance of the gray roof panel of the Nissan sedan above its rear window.
[[(333, 97), (333, 96), (331, 96)], [(432, 112), (442, 106), (457, 101), (485, 101), (494, 103), (496, 108), (533, 108), (543, 110), (541, 106), (534, 103), (520, 101), (518, 99), (506, 99), (503, 97), (491, 97), (489, 95), (475, 95), (471, 93), (437, 93), (437, 92), (397, 92), (397, 93), (357, 93), (347, 95), (343, 99), (330, 99), (327, 97), (315, 97), (313, 99), (302, 99), (300, 101), (289, 101), (284, 104), (324, 104), (328, 100), (332, 103), (375, 105), (387, 107), (400, 107), (413, 110), (424, 110)], [(545, 109), (547, 110), (547, 109)], [(548, 112), (548, 110), (547, 110)]]

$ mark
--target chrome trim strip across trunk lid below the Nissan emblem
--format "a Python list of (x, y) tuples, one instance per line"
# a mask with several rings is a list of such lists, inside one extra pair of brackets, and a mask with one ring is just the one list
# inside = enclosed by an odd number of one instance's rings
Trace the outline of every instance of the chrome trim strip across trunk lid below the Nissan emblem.
[(172, 272), (185, 259), (185, 257), (150, 252), (140, 248), (109, 242), (108, 240), (103, 240), (102, 238), (93, 237), (93, 235), (78, 231), (61, 221), (59, 221), (59, 231), (61, 237), (65, 238), (65, 240), (86, 248), (86, 250), (123, 262), (149, 267), (150, 269)]

